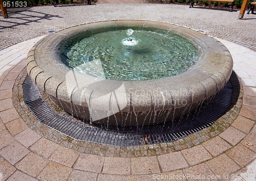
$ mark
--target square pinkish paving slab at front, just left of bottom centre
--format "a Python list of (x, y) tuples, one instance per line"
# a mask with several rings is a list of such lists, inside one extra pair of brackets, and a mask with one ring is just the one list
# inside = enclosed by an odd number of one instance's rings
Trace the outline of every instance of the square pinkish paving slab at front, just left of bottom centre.
[(102, 173), (130, 175), (131, 158), (105, 157)]

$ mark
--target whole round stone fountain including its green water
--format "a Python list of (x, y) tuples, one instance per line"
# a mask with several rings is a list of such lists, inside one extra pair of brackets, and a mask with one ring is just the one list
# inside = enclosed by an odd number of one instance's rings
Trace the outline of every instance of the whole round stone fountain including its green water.
[(28, 54), (27, 71), (79, 119), (143, 127), (172, 122), (214, 96), (230, 77), (232, 58), (222, 43), (186, 27), (111, 20), (42, 39)]

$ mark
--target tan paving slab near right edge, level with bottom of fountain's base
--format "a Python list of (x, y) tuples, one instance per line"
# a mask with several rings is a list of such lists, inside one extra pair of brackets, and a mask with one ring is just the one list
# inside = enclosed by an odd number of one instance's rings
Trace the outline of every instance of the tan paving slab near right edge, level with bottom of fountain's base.
[(238, 130), (249, 133), (254, 121), (251, 121), (243, 116), (238, 116), (236, 120), (231, 124), (233, 127), (238, 128)]

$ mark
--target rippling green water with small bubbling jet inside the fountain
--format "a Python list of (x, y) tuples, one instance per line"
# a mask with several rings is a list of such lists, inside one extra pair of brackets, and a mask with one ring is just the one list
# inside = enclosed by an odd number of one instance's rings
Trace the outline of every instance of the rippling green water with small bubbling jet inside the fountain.
[(78, 72), (124, 81), (174, 76), (198, 60), (197, 48), (190, 40), (172, 32), (146, 29), (76, 37), (61, 51), (67, 58), (64, 63)]

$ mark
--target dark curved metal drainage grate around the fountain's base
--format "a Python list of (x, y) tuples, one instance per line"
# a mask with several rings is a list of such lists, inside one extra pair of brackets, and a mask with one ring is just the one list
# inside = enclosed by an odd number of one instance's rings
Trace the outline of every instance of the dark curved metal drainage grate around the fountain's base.
[(228, 81), (224, 88), (212, 99), (211, 104), (198, 112), (196, 116), (186, 117), (172, 126), (119, 132), (86, 126), (57, 114), (41, 98), (39, 89), (33, 84), (28, 75), (24, 81), (23, 89), (25, 104), (42, 124), (76, 140), (124, 147), (172, 142), (203, 130), (228, 110), (232, 97), (232, 85)]

